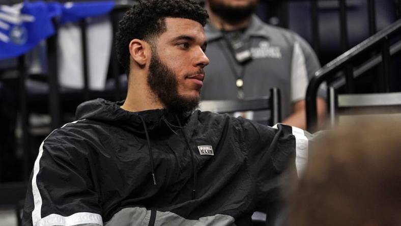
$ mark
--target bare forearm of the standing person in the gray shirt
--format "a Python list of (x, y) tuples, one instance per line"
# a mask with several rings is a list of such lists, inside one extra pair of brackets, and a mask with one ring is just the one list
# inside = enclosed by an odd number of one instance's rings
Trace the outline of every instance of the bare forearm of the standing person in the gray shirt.
[[(316, 99), (318, 109), (318, 127), (324, 124), (326, 118), (326, 101), (318, 97)], [(289, 117), (283, 120), (283, 124), (295, 126), (301, 129), (306, 129), (306, 107), (305, 100), (300, 100), (294, 103), (294, 112)]]

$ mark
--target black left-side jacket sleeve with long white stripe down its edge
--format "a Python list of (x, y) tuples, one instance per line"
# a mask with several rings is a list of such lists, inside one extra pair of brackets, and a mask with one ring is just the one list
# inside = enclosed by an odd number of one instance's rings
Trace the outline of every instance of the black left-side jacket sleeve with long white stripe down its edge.
[(41, 144), (27, 186), (23, 225), (103, 225), (89, 150), (75, 140)]

